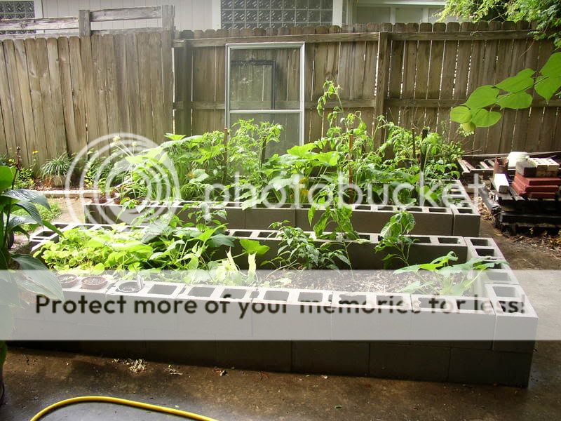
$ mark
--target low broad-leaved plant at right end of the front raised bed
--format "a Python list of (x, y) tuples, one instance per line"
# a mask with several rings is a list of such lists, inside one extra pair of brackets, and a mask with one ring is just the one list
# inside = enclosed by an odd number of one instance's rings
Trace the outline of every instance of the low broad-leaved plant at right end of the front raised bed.
[(471, 290), (482, 271), (496, 265), (496, 262), (488, 262), (485, 258), (475, 258), (452, 265), (452, 262), (457, 260), (457, 255), (451, 251), (430, 263), (397, 269), (395, 274), (414, 273), (417, 277), (400, 292), (461, 296)]

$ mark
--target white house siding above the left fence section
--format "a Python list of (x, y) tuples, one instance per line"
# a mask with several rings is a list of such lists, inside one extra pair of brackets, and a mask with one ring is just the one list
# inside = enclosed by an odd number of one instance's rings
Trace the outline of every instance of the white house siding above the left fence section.
[[(79, 10), (98, 10), (104, 8), (123, 8), (139, 6), (175, 6), (175, 27), (183, 29), (212, 28), (212, 0), (36, 0), (41, 2), (43, 18), (77, 16)], [(37, 7), (35, 11), (37, 12)], [(39, 16), (38, 16), (39, 17)], [(159, 19), (123, 20), (115, 22), (98, 22), (92, 29), (121, 29), (135, 27), (156, 27), (161, 25)]]

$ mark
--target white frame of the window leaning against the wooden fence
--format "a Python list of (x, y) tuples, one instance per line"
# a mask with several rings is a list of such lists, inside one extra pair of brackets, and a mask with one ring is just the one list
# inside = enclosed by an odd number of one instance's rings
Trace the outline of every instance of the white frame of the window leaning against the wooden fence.
[[(299, 108), (297, 109), (230, 109), (230, 53), (232, 50), (300, 49)], [(226, 95), (224, 121), (230, 127), (230, 116), (243, 114), (299, 114), (299, 145), (304, 145), (304, 42), (250, 42), (226, 44)], [(274, 83), (274, 81), (273, 81)]]

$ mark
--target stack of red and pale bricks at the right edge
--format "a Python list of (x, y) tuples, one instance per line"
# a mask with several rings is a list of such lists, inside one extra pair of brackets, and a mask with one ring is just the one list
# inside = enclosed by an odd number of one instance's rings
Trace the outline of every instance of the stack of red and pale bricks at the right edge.
[(529, 158), (516, 163), (513, 189), (522, 197), (555, 199), (560, 191), (559, 164), (549, 158)]

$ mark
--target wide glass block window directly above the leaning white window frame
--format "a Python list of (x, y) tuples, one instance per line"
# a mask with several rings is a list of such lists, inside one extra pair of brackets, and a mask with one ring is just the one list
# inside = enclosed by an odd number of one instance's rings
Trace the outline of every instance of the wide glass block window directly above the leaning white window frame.
[(333, 0), (222, 0), (222, 29), (331, 25)]

